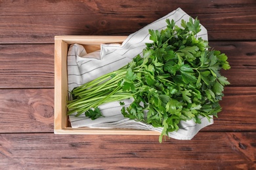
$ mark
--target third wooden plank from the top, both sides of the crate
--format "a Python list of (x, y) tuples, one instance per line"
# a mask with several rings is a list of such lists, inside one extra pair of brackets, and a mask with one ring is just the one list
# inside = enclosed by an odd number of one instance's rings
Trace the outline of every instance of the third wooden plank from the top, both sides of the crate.
[[(202, 131), (256, 131), (256, 87), (227, 87), (223, 111)], [(53, 89), (0, 90), (0, 133), (53, 132)]]

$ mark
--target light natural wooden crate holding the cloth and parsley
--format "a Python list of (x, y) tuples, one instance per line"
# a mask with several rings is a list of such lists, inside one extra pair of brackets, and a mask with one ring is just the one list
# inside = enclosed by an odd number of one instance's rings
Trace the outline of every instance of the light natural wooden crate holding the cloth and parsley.
[(54, 133), (97, 135), (160, 135), (156, 131), (137, 129), (72, 128), (68, 123), (66, 103), (68, 100), (67, 54), (70, 44), (82, 44), (87, 52), (100, 49), (102, 43), (121, 43), (125, 36), (56, 36), (54, 50)]

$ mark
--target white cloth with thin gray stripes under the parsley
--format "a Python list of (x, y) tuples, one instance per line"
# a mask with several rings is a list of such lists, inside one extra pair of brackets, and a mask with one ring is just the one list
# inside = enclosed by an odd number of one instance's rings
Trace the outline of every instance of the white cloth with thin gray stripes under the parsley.
[[(156, 20), (152, 24), (143, 27), (139, 31), (129, 35), (122, 44), (101, 44), (101, 49), (87, 54), (85, 48), (79, 44), (70, 45), (68, 51), (68, 89), (71, 91), (74, 87), (89, 82), (98, 76), (110, 73), (126, 65), (137, 54), (141, 54), (149, 39), (148, 29), (165, 29), (165, 20), (175, 20), (177, 25), (181, 25), (181, 20), (188, 21), (190, 16), (182, 9), (174, 10), (163, 18)], [(201, 25), (202, 31), (198, 37), (207, 40), (207, 30)], [(125, 105), (129, 105), (133, 99), (125, 100)], [(124, 118), (121, 114), (121, 107), (118, 102), (101, 105), (100, 110), (104, 117), (91, 120), (81, 114), (78, 117), (70, 116), (72, 127), (96, 127), (96, 128), (129, 128), (146, 129), (159, 131), (161, 127), (156, 128), (142, 122), (136, 122)], [(189, 140), (205, 126), (213, 124), (207, 118), (201, 118), (202, 124), (196, 124), (193, 120), (181, 122), (179, 130), (169, 133), (169, 137), (174, 139)]]

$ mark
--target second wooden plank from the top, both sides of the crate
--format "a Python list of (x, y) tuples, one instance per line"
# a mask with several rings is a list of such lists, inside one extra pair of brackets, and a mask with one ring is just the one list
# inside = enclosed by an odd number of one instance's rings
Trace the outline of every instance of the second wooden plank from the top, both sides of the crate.
[[(256, 86), (256, 42), (210, 42), (228, 56), (230, 86)], [(0, 88), (53, 88), (53, 44), (0, 44)]]

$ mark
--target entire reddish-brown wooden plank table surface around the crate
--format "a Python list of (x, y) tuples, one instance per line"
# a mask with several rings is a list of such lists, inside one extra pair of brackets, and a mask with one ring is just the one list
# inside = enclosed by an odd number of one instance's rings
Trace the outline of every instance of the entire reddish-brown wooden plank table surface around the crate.
[[(219, 118), (191, 141), (54, 135), (54, 36), (129, 35), (181, 7), (228, 56)], [(256, 169), (256, 1), (0, 1), (0, 169)]]

